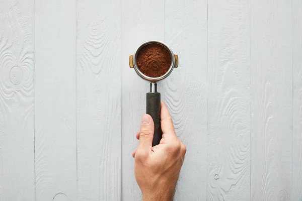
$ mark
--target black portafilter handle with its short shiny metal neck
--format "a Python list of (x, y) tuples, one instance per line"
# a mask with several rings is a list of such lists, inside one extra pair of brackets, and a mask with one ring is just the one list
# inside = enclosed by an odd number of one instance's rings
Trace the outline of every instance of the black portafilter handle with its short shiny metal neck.
[(154, 121), (154, 137), (152, 146), (160, 144), (162, 139), (161, 128), (161, 93), (157, 92), (157, 83), (150, 83), (150, 92), (146, 98), (146, 114)]

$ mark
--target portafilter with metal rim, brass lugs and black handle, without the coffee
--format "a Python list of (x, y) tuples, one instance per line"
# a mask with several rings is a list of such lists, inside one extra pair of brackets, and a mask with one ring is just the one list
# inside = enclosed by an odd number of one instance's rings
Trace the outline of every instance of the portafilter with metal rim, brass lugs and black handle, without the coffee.
[[(168, 71), (160, 76), (160, 77), (148, 77), (145, 74), (143, 74), (136, 63), (137, 54), (141, 50), (141, 48), (150, 45), (150, 44), (158, 44), (165, 47), (171, 56), (171, 65)], [(144, 80), (147, 80), (150, 82), (150, 92), (146, 94), (146, 114), (150, 115), (154, 121), (154, 137), (152, 146), (160, 144), (160, 141), (162, 139), (162, 128), (161, 128), (161, 93), (157, 91), (157, 82), (166, 78), (174, 68), (178, 67), (178, 55), (174, 54), (172, 49), (166, 45), (165, 43), (161, 41), (148, 41), (143, 44), (141, 44), (134, 54), (131, 54), (129, 56), (129, 65), (130, 68), (134, 68), (135, 72)]]

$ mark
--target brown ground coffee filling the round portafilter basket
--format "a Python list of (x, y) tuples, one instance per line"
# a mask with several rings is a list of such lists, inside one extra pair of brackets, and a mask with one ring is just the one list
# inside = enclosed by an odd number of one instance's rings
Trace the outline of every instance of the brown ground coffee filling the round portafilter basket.
[(148, 44), (139, 50), (136, 64), (144, 75), (148, 77), (160, 77), (169, 70), (171, 56), (164, 46), (160, 44)]

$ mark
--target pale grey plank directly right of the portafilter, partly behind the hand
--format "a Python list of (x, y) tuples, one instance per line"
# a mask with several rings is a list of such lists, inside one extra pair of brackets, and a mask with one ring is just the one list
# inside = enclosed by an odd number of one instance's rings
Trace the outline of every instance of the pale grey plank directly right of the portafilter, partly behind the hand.
[(165, 99), (187, 146), (175, 200), (206, 200), (207, 2), (167, 0), (165, 8), (166, 43), (180, 59), (166, 78)]

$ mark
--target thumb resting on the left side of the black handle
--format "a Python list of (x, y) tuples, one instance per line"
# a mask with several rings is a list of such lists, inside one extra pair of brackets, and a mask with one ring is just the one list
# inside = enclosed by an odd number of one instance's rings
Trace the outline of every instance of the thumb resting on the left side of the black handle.
[(137, 152), (147, 154), (151, 152), (154, 135), (154, 122), (150, 115), (143, 115), (140, 123), (139, 142)]

